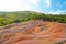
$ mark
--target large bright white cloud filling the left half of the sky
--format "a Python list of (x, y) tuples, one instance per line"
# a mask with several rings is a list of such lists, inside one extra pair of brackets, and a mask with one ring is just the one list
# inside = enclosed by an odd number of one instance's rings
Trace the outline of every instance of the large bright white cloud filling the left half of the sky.
[(38, 0), (0, 0), (0, 11), (32, 10), (37, 7)]

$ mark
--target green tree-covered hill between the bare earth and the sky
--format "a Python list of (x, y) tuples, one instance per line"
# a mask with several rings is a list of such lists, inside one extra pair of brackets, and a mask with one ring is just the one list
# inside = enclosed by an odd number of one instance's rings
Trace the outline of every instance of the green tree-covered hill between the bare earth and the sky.
[(66, 14), (45, 14), (35, 11), (0, 12), (0, 26), (28, 20), (66, 23)]

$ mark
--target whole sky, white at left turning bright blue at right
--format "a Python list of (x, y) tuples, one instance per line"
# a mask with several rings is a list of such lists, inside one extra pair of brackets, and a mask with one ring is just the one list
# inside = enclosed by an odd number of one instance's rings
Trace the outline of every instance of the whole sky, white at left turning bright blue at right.
[(37, 11), (66, 13), (66, 0), (0, 0), (0, 11)]

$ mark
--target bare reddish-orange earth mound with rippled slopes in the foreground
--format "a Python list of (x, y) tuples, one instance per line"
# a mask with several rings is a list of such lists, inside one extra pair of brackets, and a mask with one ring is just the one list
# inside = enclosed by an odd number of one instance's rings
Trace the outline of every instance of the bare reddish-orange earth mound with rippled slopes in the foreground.
[(0, 44), (66, 44), (64, 23), (32, 20), (0, 29)]

